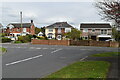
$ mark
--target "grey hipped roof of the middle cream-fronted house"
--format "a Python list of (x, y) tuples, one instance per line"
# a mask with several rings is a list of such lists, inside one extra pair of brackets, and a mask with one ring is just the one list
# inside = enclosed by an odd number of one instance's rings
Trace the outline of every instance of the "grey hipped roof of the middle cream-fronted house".
[(47, 26), (46, 28), (73, 28), (73, 26), (69, 25), (67, 22), (56, 22), (52, 25)]

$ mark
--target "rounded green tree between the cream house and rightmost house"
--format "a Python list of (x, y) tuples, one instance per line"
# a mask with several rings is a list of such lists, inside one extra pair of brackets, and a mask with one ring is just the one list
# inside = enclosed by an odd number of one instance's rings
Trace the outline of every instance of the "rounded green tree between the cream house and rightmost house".
[(80, 30), (74, 28), (71, 30), (71, 32), (68, 32), (68, 33), (65, 33), (64, 35), (67, 37), (67, 38), (70, 38), (72, 40), (77, 40), (80, 38)]

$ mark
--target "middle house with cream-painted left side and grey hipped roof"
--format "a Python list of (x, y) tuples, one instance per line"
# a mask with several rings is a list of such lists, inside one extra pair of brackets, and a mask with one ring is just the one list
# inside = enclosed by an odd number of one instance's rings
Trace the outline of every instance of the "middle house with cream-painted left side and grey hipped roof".
[(45, 35), (48, 39), (62, 40), (67, 32), (71, 32), (73, 27), (67, 22), (56, 22), (45, 28)]

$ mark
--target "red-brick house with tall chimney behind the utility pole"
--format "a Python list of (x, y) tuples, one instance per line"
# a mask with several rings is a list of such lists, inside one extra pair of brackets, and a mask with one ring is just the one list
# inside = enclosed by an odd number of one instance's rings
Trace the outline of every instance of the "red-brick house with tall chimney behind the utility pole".
[(6, 33), (8, 35), (12, 35), (14, 37), (24, 36), (27, 34), (34, 35), (35, 34), (35, 26), (33, 20), (31, 23), (10, 23), (7, 25)]

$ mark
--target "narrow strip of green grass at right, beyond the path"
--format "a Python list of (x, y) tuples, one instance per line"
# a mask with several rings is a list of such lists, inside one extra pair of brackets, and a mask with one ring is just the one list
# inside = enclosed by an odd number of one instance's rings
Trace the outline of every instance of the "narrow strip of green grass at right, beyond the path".
[(120, 56), (120, 52), (105, 52), (99, 54), (93, 54), (92, 57), (116, 57)]

